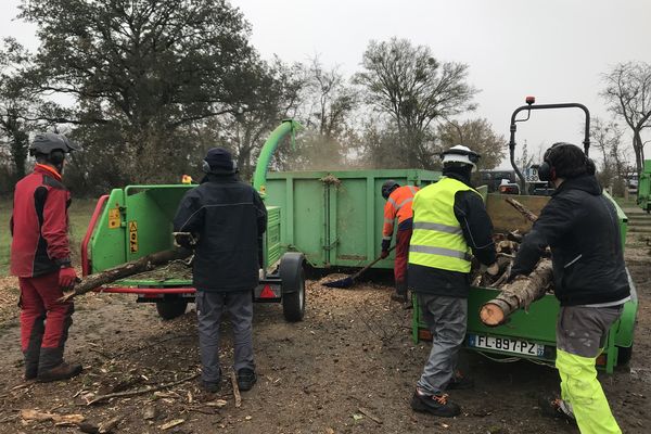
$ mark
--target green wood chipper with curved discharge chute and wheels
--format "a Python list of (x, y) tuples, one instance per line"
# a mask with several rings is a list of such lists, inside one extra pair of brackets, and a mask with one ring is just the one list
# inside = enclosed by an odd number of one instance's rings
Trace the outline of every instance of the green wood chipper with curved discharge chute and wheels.
[[(260, 152), (254, 188), (264, 193), (267, 165), (280, 141), (301, 126), (283, 122)], [(174, 246), (173, 219), (183, 194), (195, 186), (128, 186), (114, 189), (98, 201), (81, 243), (82, 273), (95, 273)], [(263, 194), (264, 195), (264, 194)], [(268, 205), (268, 204), (267, 204)], [(278, 206), (267, 206), (268, 225), (264, 238), (259, 284), (255, 302), (281, 303), (289, 321), (305, 314), (305, 257), (281, 247), (281, 215)], [(186, 276), (132, 277), (100, 291), (136, 294), (140, 303), (155, 303), (164, 319), (184, 312), (194, 301), (191, 272)]]

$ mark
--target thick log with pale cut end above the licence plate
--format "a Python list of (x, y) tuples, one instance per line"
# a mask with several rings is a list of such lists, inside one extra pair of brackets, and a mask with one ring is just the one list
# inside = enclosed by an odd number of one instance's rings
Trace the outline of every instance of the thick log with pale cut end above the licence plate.
[(527, 309), (542, 298), (553, 279), (551, 260), (541, 259), (529, 276), (519, 276), (507, 283), (500, 294), (480, 309), (482, 322), (489, 327), (503, 324), (515, 310)]

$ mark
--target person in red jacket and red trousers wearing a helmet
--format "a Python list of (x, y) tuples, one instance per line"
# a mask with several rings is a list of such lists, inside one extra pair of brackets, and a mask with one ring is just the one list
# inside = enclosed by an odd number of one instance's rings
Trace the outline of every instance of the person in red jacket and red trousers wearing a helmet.
[(21, 286), (25, 380), (49, 382), (81, 372), (81, 365), (63, 360), (75, 308), (72, 302), (59, 301), (77, 279), (68, 242), (71, 193), (61, 182), (65, 155), (76, 149), (65, 136), (36, 135), (29, 146), (36, 166), (14, 192), (11, 272)]

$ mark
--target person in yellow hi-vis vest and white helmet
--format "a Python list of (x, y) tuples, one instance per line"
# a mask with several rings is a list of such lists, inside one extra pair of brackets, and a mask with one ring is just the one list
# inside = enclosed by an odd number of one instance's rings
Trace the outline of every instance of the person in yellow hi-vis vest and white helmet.
[(456, 145), (441, 155), (444, 177), (413, 197), (413, 233), (409, 243), (409, 288), (417, 294), (423, 320), (434, 340), (411, 408), (452, 418), (461, 410), (446, 391), (470, 388), (457, 369), (465, 337), (471, 257), (497, 275), (493, 224), (480, 193), (470, 183), (480, 155)]

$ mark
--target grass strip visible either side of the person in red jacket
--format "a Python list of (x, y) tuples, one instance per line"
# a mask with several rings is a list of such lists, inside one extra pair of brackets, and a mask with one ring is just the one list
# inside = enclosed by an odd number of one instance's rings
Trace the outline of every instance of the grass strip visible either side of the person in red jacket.
[[(68, 209), (71, 247), (73, 250), (73, 265), (79, 265), (79, 246), (86, 235), (86, 228), (94, 209), (94, 199), (73, 197)], [(0, 201), (0, 276), (9, 273), (9, 258), (11, 251), (11, 235), (9, 232), (9, 220), (11, 218), (12, 201), (2, 199)]]

